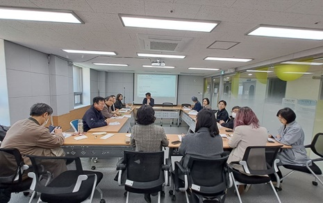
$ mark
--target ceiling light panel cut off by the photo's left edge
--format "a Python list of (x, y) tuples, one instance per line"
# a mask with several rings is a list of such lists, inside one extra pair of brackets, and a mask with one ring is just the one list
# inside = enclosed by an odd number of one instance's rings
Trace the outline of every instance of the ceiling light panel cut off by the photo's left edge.
[(0, 7), (0, 19), (29, 21), (50, 21), (71, 24), (84, 24), (72, 10), (49, 10), (38, 8)]

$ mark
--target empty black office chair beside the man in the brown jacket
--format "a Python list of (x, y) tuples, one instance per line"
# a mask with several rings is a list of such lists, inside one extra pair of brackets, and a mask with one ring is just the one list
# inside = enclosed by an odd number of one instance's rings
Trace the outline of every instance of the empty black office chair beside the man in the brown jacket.
[[(39, 192), (42, 202), (83, 202), (89, 199), (92, 202), (95, 188), (101, 194), (100, 203), (105, 203), (101, 189), (97, 186), (103, 174), (83, 170), (81, 160), (78, 157), (38, 157), (27, 155), (33, 164), (33, 172), (28, 173), (33, 178), (31, 189)], [(58, 173), (58, 168), (62, 164), (67, 170)], [(33, 193), (32, 197), (35, 195)]]

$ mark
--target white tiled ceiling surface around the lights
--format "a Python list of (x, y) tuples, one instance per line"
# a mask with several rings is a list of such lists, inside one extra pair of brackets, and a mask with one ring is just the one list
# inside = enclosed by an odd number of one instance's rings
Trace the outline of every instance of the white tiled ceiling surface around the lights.
[[(270, 64), (274, 58), (323, 46), (322, 40), (245, 35), (259, 24), (323, 29), (322, 0), (0, 0), (0, 6), (73, 10), (85, 24), (0, 19), (0, 38), (67, 58), (82, 67), (98, 71), (210, 76), (231, 68), (244, 69), (258, 64)], [(122, 25), (118, 14), (221, 22), (211, 33), (128, 28)], [(142, 46), (142, 40), (149, 38), (157, 39), (156, 42), (180, 40), (181, 43), (174, 51), (156, 51), (163, 48), (160, 45), (165, 45), (156, 43), (153, 51)], [(61, 51), (62, 48), (115, 51), (117, 55), (71, 54)], [(174, 66), (175, 69), (143, 68), (143, 64), (149, 65), (157, 58), (140, 58), (137, 53), (186, 55), (186, 58), (160, 58), (167, 66)], [(207, 56), (254, 60), (204, 60)], [(129, 67), (98, 66), (92, 62), (129, 64)], [(189, 70), (188, 67), (219, 68), (220, 71)]]

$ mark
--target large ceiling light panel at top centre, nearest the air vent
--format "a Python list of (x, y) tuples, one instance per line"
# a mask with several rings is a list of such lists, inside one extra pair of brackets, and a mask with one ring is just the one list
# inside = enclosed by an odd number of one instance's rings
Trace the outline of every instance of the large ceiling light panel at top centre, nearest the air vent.
[(119, 15), (126, 27), (157, 28), (167, 30), (188, 30), (211, 32), (220, 21), (199, 21), (176, 18), (157, 18), (132, 15)]

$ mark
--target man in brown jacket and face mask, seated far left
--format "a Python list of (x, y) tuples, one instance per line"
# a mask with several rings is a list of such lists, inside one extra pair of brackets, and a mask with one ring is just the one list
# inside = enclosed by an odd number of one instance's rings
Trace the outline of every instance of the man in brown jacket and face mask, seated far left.
[[(24, 155), (45, 157), (63, 157), (65, 152), (60, 148), (64, 143), (62, 129), (55, 129), (51, 134), (47, 127), (53, 109), (45, 103), (36, 103), (30, 109), (30, 117), (17, 121), (8, 130), (1, 148), (17, 148), (23, 155), (24, 163), (31, 165), (31, 161)], [(67, 170), (65, 161), (56, 160), (51, 163), (53, 176)], [(26, 175), (24, 178), (28, 178)]]

